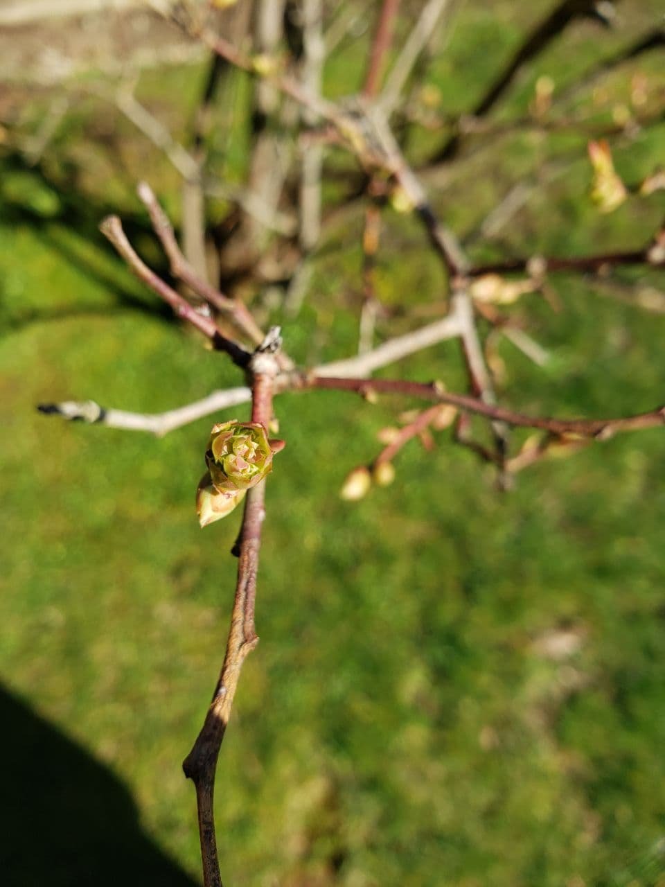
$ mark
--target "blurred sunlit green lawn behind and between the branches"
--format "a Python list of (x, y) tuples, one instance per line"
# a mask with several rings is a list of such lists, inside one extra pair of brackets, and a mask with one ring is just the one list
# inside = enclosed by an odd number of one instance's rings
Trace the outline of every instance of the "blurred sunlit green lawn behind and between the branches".
[[(443, 112), (473, 106), (550, 4), (529, 7), (528, 20), (521, 5), (458, 11), (421, 81), (440, 90)], [(525, 113), (540, 75), (552, 76), (556, 98), (659, 8), (622, 4), (614, 31), (570, 27), (497, 119)], [(330, 60), (328, 94), (357, 89), (367, 39), (359, 33)], [(562, 113), (612, 122), (630, 108), (638, 72), (662, 97), (654, 51)], [(203, 63), (146, 74), (138, 93), (177, 136), (205, 74)], [(238, 75), (234, 94), (245, 89)], [(45, 100), (31, 98), (28, 130)], [(243, 174), (240, 111), (231, 132), (212, 129), (211, 168), (225, 180)], [(642, 247), (661, 224), (662, 192), (599, 215), (586, 139), (518, 130), (428, 186), (467, 237), (512, 184), (536, 184), (500, 246), (472, 242), (479, 260)], [(440, 141), (416, 128), (412, 156)], [(638, 183), (663, 161), (665, 126), (612, 144), (618, 171)], [(337, 155), (330, 162), (345, 169)], [(556, 177), (544, 174), (552, 162)], [(223, 657), (238, 529), (234, 514), (202, 531), (193, 510), (211, 420), (157, 440), (35, 412), (86, 398), (160, 412), (239, 384), (97, 232), (106, 212), (120, 213), (164, 269), (133, 196), (142, 177), (177, 219), (176, 173), (91, 99), (38, 163), (11, 141), (0, 153), (4, 883), (199, 883), (194, 795), (180, 764)], [(362, 208), (327, 227), (297, 318), (259, 302), (303, 365), (356, 349), (361, 232)], [(618, 296), (559, 275), (559, 310), (537, 295), (510, 309), (550, 359), (537, 367), (502, 340), (502, 403), (603, 416), (663, 400), (662, 300), (643, 310), (631, 289), (661, 287), (662, 271), (616, 279)], [(389, 306), (426, 317), (441, 302), (442, 272), (417, 221), (387, 211), (378, 280)], [(379, 334), (412, 324), (396, 318)], [(386, 371), (397, 373), (465, 387), (454, 342)], [(287, 447), (268, 486), (261, 643), (246, 661), (216, 791), (225, 883), (662, 887), (662, 432), (545, 460), (508, 494), (443, 432), (434, 451), (403, 451), (391, 487), (341, 501), (344, 476), (372, 459), (379, 429), (410, 405), (327, 392), (278, 400)], [(525, 436), (515, 433), (515, 445)]]

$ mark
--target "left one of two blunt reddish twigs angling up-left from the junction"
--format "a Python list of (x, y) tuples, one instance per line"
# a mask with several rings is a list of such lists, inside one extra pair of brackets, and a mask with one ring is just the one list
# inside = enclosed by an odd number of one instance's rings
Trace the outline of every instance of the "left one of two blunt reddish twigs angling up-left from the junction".
[(183, 318), (183, 320), (196, 327), (200, 333), (207, 336), (207, 339), (210, 340), (215, 349), (226, 351), (234, 364), (239, 366), (247, 365), (249, 359), (248, 351), (241, 348), (237, 342), (227, 339), (212, 318), (200, 314), (189, 302), (184, 300), (182, 295), (176, 293), (175, 289), (169, 287), (154, 271), (148, 268), (129, 243), (125, 232), (122, 230), (122, 223), (118, 216), (107, 216), (102, 224), (99, 225), (99, 230), (106, 239), (111, 241), (113, 247), (129, 265), (129, 268), (137, 278), (142, 280), (147, 287), (150, 287), (154, 293), (158, 294), (164, 302), (167, 302), (179, 318)]

